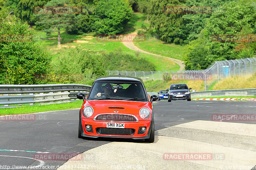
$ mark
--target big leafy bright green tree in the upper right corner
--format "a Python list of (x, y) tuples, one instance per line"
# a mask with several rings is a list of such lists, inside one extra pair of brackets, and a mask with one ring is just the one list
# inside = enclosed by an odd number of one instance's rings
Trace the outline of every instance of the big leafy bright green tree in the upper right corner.
[[(207, 46), (209, 46), (208, 60), (214, 62), (238, 59), (239, 56), (248, 56), (238, 55), (239, 51), (243, 50), (243, 48), (236, 50), (236, 47), (243, 42), (242, 40), (220, 42), (212, 41), (212, 37), (214, 35), (219, 35), (224, 38), (228, 35), (243, 37), (243, 35), (255, 34), (255, 23), (255, 7), (251, 3), (230, 2), (223, 4), (219, 11), (212, 14), (206, 25), (206, 42)], [(247, 46), (244, 46), (244, 48), (251, 48), (253, 42), (246, 44)]]

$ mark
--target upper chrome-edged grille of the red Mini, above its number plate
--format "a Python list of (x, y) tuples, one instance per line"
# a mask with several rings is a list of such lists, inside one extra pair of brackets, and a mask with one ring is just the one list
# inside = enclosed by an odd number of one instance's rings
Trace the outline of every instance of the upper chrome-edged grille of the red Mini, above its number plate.
[(96, 121), (114, 121), (114, 122), (136, 122), (136, 118), (132, 115), (120, 114), (102, 114), (95, 118)]

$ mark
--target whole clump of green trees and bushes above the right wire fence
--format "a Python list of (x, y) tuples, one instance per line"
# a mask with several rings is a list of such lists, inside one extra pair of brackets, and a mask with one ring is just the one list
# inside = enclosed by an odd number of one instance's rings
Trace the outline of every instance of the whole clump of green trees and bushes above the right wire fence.
[[(186, 70), (206, 69), (212, 62), (252, 57), (255, 42), (241, 39), (226, 41), (228, 35), (241, 37), (256, 34), (256, 13), (252, 3), (241, 5), (237, 2), (224, 3), (212, 13), (197, 40), (189, 42), (183, 60)], [(222, 36), (214, 41), (214, 36)], [(223, 41), (222, 41), (223, 40)], [(225, 40), (225, 41), (224, 41)]]

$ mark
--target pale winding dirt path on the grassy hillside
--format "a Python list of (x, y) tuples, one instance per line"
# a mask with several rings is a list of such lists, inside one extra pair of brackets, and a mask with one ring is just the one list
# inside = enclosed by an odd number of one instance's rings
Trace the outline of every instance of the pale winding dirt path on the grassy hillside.
[[(136, 31), (133, 32), (133, 33), (130, 33), (130, 34), (126, 35), (125, 38), (124, 38), (124, 40), (129, 40), (131, 37), (134, 37), (135, 35), (137, 35), (137, 31), (138, 31), (138, 30), (136, 30)], [(129, 38), (128, 38), (128, 37), (129, 37)], [(166, 57), (166, 56), (163, 56), (163, 55), (158, 55), (158, 54), (149, 53), (149, 52), (144, 51), (144, 50), (138, 48), (137, 46), (135, 46), (135, 45), (133, 44), (133, 41), (123, 41), (123, 44), (124, 44), (127, 48), (130, 48), (130, 49), (132, 49), (132, 50), (134, 50), (134, 51), (139, 51), (139, 52), (141, 52), (141, 53), (146, 53), (146, 54), (151, 54), (151, 55), (156, 55), (156, 56), (160, 56), (160, 57), (167, 58), (167, 59), (173, 61), (174, 63), (179, 64), (179, 66), (180, 66), (180, 70), (179, 70), (179, 71), (181, 71), (181, 70), (183, 70), (183, 69), (185, 68), (185, 65), (183, 64), (183, 63), (184, 63), (183, 61), (180, 61), (180, 60), (175, 59), (175, 58)]]

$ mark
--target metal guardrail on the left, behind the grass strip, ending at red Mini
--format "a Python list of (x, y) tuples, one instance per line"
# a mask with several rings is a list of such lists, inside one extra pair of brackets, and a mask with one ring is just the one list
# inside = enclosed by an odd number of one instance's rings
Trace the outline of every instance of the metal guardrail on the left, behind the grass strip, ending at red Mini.
[(90, 85), (0, 85), (0, 105), (33, 104), (75, 100), (78, 92), (88, 93)]

